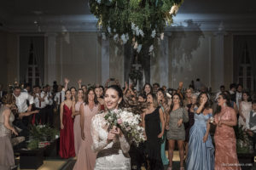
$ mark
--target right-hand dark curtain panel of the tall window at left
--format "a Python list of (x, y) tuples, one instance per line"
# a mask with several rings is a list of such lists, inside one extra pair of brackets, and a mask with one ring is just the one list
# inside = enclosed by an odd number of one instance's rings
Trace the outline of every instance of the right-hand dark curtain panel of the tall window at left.
[(44, 84), (44, 37), (32, 37), (33, 54), (37, 61), (41, 82)]

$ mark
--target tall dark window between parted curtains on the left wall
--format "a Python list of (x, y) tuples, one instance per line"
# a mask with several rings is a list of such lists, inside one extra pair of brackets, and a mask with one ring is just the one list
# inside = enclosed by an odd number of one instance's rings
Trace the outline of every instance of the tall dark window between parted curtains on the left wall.
[(28, 69), (26, 72), (26, 82), (30, 83), (32, 86), (41, 84), (37, 60), (33, 55), (33, 44), (31, 44), (29, 53)]

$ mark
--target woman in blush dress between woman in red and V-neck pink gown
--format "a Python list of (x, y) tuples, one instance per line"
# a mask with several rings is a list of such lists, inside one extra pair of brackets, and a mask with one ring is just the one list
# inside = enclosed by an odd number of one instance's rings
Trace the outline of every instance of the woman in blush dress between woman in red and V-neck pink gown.
[(79, 146), (81, 144), (81, 127), (80, 127), (80, 105), (84, 103), (84, 90), (79, 89), (78, 91), (78, 99), (77, 102), (73, 102), (73, 107), (72, 107), (72, 116), (74, 117), (74, 122), (73, 122), (73, 137), (74, 137), (74, 146), (75, 146), (75, 152), (76, 156), (79, 154)]

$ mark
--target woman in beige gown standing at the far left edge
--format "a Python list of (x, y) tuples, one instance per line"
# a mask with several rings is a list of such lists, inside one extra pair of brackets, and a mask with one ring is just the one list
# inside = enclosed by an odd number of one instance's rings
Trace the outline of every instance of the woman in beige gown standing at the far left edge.
[(0, 169), (9, 170), (15, 166), (15, 156), (13, 146), (10, 142), (11, 134), (18, 133), (12, 126), (15, 116), (10, 110), (15, 105), (15, 97), (12, 94), (6, 94), (2, 99), (3, 106), (0, 109)]

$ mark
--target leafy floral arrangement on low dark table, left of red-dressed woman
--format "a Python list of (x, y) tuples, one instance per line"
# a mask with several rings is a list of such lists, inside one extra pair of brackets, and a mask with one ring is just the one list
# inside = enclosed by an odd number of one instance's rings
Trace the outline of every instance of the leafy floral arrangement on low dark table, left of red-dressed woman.
[(33, 125), (30, 130), (30, 141), (27, 148), (29, 150), (44, 148), (44, 146), (50, 144), (54, 139), (57, 139), (59, 135), (60, 133), (57, 129), (48, 125)]

